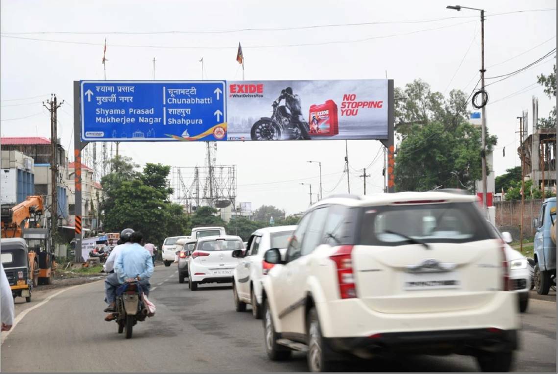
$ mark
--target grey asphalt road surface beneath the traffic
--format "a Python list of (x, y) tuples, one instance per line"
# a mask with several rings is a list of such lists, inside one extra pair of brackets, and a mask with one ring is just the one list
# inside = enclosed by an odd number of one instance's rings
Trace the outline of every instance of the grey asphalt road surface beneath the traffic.
[[(157, 314), (138, 323), (132, 339), (103, 320), (103, 282), (93, 282), (35, 297), (1, 347), (1, 370), (7, 372), (300, 372), (305, 356), (285, 362), (267, 359), (261, 320), (233, 308), (230, 286), (179, 284), (176, 265), (157, 266), (150, 299)], [(56, 294), (56, 295), (55, 295)], [(33, 304), (49, 301), (36, 309)], [(555, 299), (552, 299), (555, 300)], [(35, 304), (36, 305), (36, 304)], [(556, 372), (556, 303), (532, 299), (522, 315), (521, 350), (514, 370)], [(411, 356), (354, 361), (344, 371), (475, 372), (464, 356)]]

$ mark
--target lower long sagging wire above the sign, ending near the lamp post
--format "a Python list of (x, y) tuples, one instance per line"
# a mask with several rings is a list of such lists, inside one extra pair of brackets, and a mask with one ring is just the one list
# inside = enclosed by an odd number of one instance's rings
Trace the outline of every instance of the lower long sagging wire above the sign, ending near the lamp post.
[[(349, 43), (359, 43), (365, 42), (375, 39), (386, 39), (390, 37), (396, 36), (406, 36), (412, 35), (415, 33), (426, 32), (426, 31), (434, 31), (434, 30), (441, 30), (442, 28), (448, 27), (455, 27), (464, 25), (465, 23), (471, 23), (476, 21), (466, 21), (460, 23), (454, 23), (453, 25), (445, 25), (433, 28), (424, 28), (421, 30), (403, 32), (403, 33), (395, 33), (390, 35), (382, 35), (382, 36), (371, 36), (364, 39), (354, 39), (354, 40), (332, 40), (332, 41), (325, 41), (325, 42), (315, 42), (315, 43), (302, 43), (302, 44), (277, 44), (277, 45), (247, 45), (244, 48), (251, 48), (251, 49), (265, 49), (265, 48), (276, 48), (276, 47), (305, 47), (305, 46), (315, 46), (315, 45), (329, 45), (329, 44), (349, 44)], [(40, 39), (40, 38), (31, 38), (31, 37), (22, 37), (22, 36), (9, 36), (6, 34), (0, 34), (0, 37), (6, 37), (11, 39), (23, 39), (23, 40), (34, 40), (34, 41), (46, 41), (46, 42), (54, 42), (54, 43), (63, 43), (63, 44), (79, 44), (79, 45), (93, 45), (93, 46), (103, 46), (104, 44), (99, 43), (92, 43), (92, 42), (80, 42), (80, 41), (68, 41), (68, 40), (52, 40), (52, 39)], [(218, 47), (209, 47), (209, 46), (202, 46), (202, 47), (193, 47), (193, 46), (158, 46), (158, 45), (123, 45), (123, 44), (113, 44), (112, 47), (127, 47), (127, 48), (160, 48), (160, 49), (189, 49), (189, 50), (199, 50), (199, 49), (209, 49), (209, 50), (230, 50), (230, 49), (237, 49), (235, 46), (218, 46)]]

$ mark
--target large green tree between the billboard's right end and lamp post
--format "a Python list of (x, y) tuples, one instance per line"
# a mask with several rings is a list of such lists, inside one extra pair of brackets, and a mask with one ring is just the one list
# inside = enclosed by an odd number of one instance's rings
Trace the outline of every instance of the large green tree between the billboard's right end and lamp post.
[[(473, 188), (480, 179), (480, 129), (468, 123), (465, 93), (452, 90), (446, 99), (421, 80), (397, 89), (397, 151), (395, 184), (398, 191)], [(496, 145), (487, 136), (487, 148)]]

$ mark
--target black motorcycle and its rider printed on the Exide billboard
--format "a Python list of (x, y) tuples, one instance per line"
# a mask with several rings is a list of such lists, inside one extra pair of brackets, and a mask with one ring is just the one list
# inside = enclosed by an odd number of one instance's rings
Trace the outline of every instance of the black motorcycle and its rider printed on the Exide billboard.
[(252, 125), (252, 140), (310, 140), (310, 127), (306, 122), (294, 121), (291, 111), (280, 105), (283, 95), (272, 104), (271, 117), (262, 117)]

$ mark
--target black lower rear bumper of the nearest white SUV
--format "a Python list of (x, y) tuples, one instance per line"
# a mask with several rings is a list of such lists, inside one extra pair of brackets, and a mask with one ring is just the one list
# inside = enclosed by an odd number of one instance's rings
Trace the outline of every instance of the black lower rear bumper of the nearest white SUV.
[(465, 329), (377, 334), (373, 337), (324, 338), (338, 353), (475, 354), (518, 348), (517, 330)]

